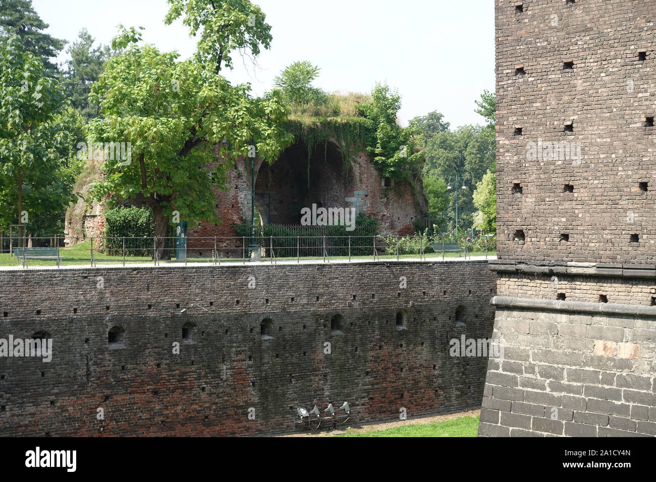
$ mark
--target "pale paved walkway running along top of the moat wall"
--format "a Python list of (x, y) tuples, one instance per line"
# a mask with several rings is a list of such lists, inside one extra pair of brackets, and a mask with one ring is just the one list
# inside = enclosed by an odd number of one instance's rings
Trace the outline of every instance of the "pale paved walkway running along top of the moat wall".
[[(444, 262), (462, 262), (462, 261), (481, 261), (481, 260), (495, 260), (497, 256), (467, 256), (465, 259), (462, 256), (444, 258)], [(441, 256), (436, 258), (435, 256), (426, 256), (426, 258), (399, 258), (399, 262), (441, 262)], [(389, 263), (396, 262), (396, 258), (352, 258), (350, 261), (346, 259), (331, 259), (323, 260), (323, 258), (312, 259), (312, 260), (295, 260), (295, 259), (285, 259), (285, 260), (276, 260), (271, 262), (270, 260), (260, 261), (260, 262), (243, 262), (243, 261), (229, 261), (221, 260), (220, 263), (213, 264), (212, 262), (194, 262), (191, 258), (187, 264), (184, 262), (175, 262), (175, 261), (161, 261), (157, 264), (157, 268), (196, 268), (198, 266), (215, 266), (216, 268), (221, 268), (223, 266), (276, 266), (276, 265), (288, 265), (288, 264), (353, 264), (353, 263)], [(126, 262), (125, 268), (154, 268), (154, 262)], [(94, 267), (91, 266), (91, 262), (86, 264), (66, 264), (62, 268), (57, 268), (56, 266), (37, 266), (31, 265), (28, 261), (27, 267), (22, 268), (22, 266), (0, 266), (0, 271), (15, 271), (15, 270), (61, 270), (61, 269), (106, 269), (106, 268), (123, 268), (121, 262), (114, 261), (98, 261)]]

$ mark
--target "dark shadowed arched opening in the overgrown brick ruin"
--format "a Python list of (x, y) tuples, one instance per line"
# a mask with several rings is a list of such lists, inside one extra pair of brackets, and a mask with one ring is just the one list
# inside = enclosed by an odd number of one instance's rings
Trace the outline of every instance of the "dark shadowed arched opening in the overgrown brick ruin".
[(264, 224), (300, 224), (301, 209), (352, 207), (346, 197), (356, 189), (351, 169), (344, 169), (335, 142), (316, 144), (310, 151), (299, 140), (273, 165), (262, 163), (255, 180), (255, 207)]

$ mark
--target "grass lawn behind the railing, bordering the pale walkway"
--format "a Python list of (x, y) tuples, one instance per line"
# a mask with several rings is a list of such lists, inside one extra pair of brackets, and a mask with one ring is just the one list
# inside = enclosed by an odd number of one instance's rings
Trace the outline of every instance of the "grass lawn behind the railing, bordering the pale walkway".
[[(144, 254), (147, 251), (144, 250)], [(479, 251), (474, 251), (471, 253), (471, 256), (485, 256), (485, 251), (479, 252)], [(487, 253), (488, 257), (494, 257), (496, 256), (495, 251), (489, 251)], [(72, 266), (72, 265), (80, 265), (80, 264), (89, 264), (91, 266), (91, 241), (83, 241), (82, 243), (77, 243), (76, 245), (66, 247), (66, 248), (60, 248), (60, 256), (62, 256), (62, 266)], [(447, 252), (445, 253), (445, 258), (457, 258), (459, 256), (459, 253), (456, 252)], [(96, 261), (96, 264), (99, 266), (101, 264), (123, 264), (123, 256), (108, 256), (107, 254), (104, 254), (100, 251), (96, 251), (94, 249), (93, 252), (93, 257), (94, 260)], [(400, 254), (399, 259), (417, 259), (419, 258), (419, 254)], [(426, 260), (441, 260), (442, 256), (436, 256), (434, 252), (429, 253), (426, 252)], [(276, 258), (277, 261), (293, 261), (296, 260), (297, 258), (295, 256), (291, 256), (289, 258)], [(322, 256), (314, 256), (314, 257), (300, 257), (301, 260), (318, 260), (318, 259), (323, 259)], [(351, 256), (352, 260), (373, 260), (373, 256)], [(396, 260), (396, 254), (380, 254), (379, 256), (376, 256), (376, 259), (388, 259), (388, 260)], [(230, 262), (240, 262), (242, 261), (241, 258), (222, 258), (222, 261), (230, 261)], [(331, 256), (329, 260), (348, 260), (348, 256)], [(270, 258), (262, 258), (262, 261), (264, 262), (271, 262)], [(144, 263), (144, 262), (152, 262), (152, 257), (151, 256), (125, 256), (125, 263)], [(167, 262), (171, 261), (166, 261), (162, 260), (161, 263), (165, 264)], [(187, 263), (188, 264), (193, 264), (193, 263), (211, 263), (213, 262), (212, 258), (187, 258)], [(49, 260), (26, 260), (26, 263), (28, 266), (56, 266), (56, 262), (54, 260), (49, 261)], [(172, 263), (175, 263), (173, 261)], [(9, 254), (8, 252), (6, 253), (0, 253), (0, 266), (18, 266), (18, 260), (14, 258), (12, 254)]]

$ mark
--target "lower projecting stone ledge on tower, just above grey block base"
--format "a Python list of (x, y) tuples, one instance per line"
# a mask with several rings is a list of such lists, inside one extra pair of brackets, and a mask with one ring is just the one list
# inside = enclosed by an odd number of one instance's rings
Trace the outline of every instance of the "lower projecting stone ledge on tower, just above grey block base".
[(527, 310), (567, 311), (569, 313), (599, 313), (656, 318), (656, 306), (634, 304), (541, 300), (539, 298), (514, 298), (512, 296), (494, 296), (490, 300), (490, 304), (506, 308), (526, 308)]

